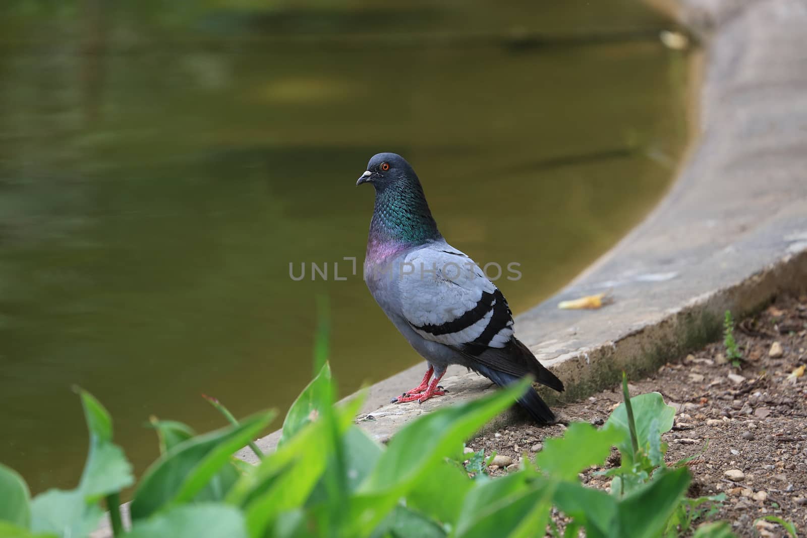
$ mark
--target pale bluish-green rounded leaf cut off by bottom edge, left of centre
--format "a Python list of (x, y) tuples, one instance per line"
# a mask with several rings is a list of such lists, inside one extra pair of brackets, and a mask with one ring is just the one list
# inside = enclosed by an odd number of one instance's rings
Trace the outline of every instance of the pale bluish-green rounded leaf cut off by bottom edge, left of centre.
[(199, 503), (173, 507), (134, 522), (126, 538), (247, 538), (244, 516), (233, 507)]

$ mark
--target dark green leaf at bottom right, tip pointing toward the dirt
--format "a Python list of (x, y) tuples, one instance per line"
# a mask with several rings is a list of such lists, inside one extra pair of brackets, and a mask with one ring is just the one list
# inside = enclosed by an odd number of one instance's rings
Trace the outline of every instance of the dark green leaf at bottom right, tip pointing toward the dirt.
[(689, 486), (688, 469), (658, 471), (653, 480), (617, 503), (617, 532), (611, 536), (659, 536)]

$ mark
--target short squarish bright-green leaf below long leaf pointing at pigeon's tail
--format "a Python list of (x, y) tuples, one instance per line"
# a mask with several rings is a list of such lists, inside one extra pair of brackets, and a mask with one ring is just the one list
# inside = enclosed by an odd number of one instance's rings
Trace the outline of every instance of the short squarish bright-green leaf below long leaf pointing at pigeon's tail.
[[(439, 487), (435, 487), (439, 484)], [(438, 461), (406, 496), (408, 507), (433, 515), (443, 523), (455, 523), (466, 494), (474, 486), (468, 474), (449, 461)], [(446, 494), (450, 492), (450, 494)]]

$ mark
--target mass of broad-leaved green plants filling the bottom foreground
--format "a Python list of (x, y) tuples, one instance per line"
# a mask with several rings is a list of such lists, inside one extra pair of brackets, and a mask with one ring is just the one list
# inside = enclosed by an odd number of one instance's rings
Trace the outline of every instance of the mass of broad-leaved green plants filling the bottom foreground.
[[(320, 346), (316, 376), (291, 406), (282, 440), (258, 465), (232, 457), (266, 427), (266, 411), (237, 420), (213, 402), (228, 425), (196, 435), (185, 424), (152, 419), (161, 456), (137, 484), (132, 524), (124, 528), (118, 496), (132, 485), (123, 451), (112, 443), (111, 419), (79, 391), (90, 431), (90, 455), (75, 490), (50, 490), (31, 500), (22, 478), (0, 466), (0, 537), (87, 536), (111, 511), (115, 536), (128, 538), (313, 538), (540, 536), (550, 509), (571, 518), (564, 536), (677, 536), (719, 498), (688, 499), (685, 465), (663, 463), (661, 434), (674, 411), (658, 393), (627, 398), (597, 429), (572, 423), (544, 442), (534, 462), (502, 478), (487, 476), (483, 451), (468, 457), (464, 441), (512, 405), (529, 384), (517, 383), (475, 402), (424, 414), (386, 447), (353, 417), (362, 398), (334, 404), (334, 382)], [(209, 398), (211, 399), (211, 398)], [(579, 473), (602, 465), (612, 447), (621, 465), (609, 471), (611, 493), (583, 486)], [(554, 528), (557, 535), (558, 529)], [(701, 527), (701, 538), (731, 536), (725, 526)]]

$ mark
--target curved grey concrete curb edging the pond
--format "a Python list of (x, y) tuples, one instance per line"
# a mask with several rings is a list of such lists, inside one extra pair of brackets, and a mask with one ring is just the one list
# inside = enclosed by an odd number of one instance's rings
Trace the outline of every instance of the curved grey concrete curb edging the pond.
[[(648, 219), (516, 320), (521, 340), (566, 384), (562, 400), (713, 340), (727, 309), (742, 316), (782, 290), (807, 290), (807, 1), (667, 6), (707, 44), (699, 140)], [(604, 290), (614, 303), (599, 311), (557, 308)], [(442, 383), (446, 396), (377, 408), (423, 372), (417, 365), (371, 386), (358, 423), (384, 441), (417, 415), (491, 390), (483, 377), (454, 367)], [(514, 409), (489, 427), (522, 418)], [(277, 438), (258, 444), (274, 448)]]

